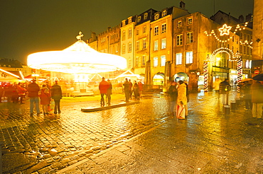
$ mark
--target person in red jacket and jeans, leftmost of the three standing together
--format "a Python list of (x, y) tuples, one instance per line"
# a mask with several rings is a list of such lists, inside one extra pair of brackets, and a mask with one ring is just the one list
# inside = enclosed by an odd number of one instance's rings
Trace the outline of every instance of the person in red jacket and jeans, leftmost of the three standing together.
[(37, 115), (40, 115), (39, 110), (39, 97), (38, 91), (40, 90), (36, 80), (33, 79), (30, 84), (28, 84), (28, 98), (30, 98), (30, 115), (33, 116), (34, 105), (36, 105)]

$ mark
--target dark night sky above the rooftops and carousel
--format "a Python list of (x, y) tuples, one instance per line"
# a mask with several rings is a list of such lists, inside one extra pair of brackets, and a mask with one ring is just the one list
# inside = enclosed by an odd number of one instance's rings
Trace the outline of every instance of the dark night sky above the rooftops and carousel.
[[(149, 8), (179, 6), (180, 0), (1, 0), (0, 58), (26, 64), (28, 54), (63, 50), (90, 33), (102, 33)], [(184, 0), (190, 13), (214, 14), (214, 0)], [(253, 0), (215, 0), (215, 12), (238, 18), (253, 12)]]

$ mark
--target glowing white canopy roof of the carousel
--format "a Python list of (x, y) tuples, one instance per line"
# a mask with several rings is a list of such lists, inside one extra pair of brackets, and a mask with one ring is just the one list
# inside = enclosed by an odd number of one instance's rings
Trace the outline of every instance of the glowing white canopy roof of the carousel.
[(95, 74), (126, 69), (127, 61), (124, 57), (97, 52), (84, 41), (78, 40), (65, 50), (28, 55), (28, 66), (32, 69), (69, 74)]

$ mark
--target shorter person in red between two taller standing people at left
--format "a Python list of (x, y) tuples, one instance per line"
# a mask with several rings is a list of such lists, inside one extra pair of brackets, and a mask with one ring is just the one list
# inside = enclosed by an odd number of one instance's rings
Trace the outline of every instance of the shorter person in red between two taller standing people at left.
[(42, 86), (39, 97), (41, 98), (43, 114), (48, 115), (48, 105), (50, 104), (50, 91), (46, 85)]

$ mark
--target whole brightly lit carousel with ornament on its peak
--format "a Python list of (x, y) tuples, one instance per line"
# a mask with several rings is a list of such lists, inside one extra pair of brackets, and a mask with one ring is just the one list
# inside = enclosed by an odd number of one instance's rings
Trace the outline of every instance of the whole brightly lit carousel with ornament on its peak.
[[(81, 40), (83, 35), (79, 34), (77, 42), (64, 50), (29, 54), (28, 66), (38, 71), (50, 71), (50, 81), (66, 81), (67, 89), (82, 93), (90, 90), (87, 88), (90, 74), (127, 68), (124, 57), (97, 52)], [(69, 86), (68, 81), (74, 81), (74, 86), (72, 83)]]

